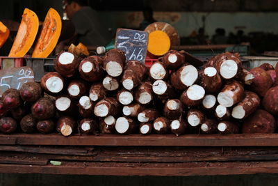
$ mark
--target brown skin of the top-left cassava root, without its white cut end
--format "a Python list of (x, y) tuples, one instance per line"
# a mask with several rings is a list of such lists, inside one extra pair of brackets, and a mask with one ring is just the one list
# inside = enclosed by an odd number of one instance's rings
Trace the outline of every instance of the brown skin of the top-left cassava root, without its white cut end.
[(63, 53), (64, 52), (60, 52), (60, 54), (56, 56), (56, 59), (54, 59), (54, 68), (56, 72), (58, 72), (60, 75), (63, 75), (63, 77), (73, 77), (79, 67), (80, 59), (75, 54), (73, 54), (74, 60), (72, 63), (63, 65), (59, 62), (59, 57)]

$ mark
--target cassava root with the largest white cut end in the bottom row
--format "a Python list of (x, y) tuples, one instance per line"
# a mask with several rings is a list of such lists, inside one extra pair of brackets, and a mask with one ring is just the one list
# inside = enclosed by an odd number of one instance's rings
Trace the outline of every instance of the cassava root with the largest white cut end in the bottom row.
[(137, 124), (133, 119), (126, 117), (117, 118), (115, 129), (119, 134), (132, 134), (136, 128)]

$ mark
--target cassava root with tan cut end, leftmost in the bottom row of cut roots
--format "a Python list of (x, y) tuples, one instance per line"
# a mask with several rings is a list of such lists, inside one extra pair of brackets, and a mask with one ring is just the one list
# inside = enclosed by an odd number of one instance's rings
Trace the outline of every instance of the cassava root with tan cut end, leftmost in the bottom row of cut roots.
[[(65, 128), (63, 128), (64, 125), (67, 126), (67, 129), (71, 130), (65, 130)], [(56, 130), (63, 136), (69, 136), (76, 129), (76, 125), (76, 121), (70, 116), (62, 116), (57, 121)]]

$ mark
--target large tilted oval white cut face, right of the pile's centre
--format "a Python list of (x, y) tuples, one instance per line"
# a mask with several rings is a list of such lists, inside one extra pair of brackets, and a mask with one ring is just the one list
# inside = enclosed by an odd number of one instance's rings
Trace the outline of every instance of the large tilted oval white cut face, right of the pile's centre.
[(198, 71), (193, 65), (187, 65), (181, 70), (181, 82), (186, 86), (193, 85), (198, 78)]

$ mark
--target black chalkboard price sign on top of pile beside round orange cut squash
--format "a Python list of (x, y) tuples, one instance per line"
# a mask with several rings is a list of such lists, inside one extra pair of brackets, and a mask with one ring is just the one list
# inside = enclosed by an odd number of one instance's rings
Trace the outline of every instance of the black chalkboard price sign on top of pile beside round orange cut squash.
[(149, 35), (145, 31), (117, 29), (116, 48), (126, 53), (126, 61), (145, 63)]

